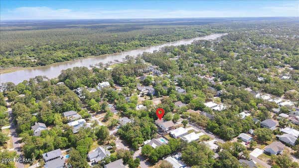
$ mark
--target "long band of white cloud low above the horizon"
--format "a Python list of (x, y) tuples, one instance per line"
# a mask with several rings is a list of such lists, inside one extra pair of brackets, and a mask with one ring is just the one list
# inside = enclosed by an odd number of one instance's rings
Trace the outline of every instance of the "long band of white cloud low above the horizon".
[(1, 20), (13, 19), (105, 19), (105, 18), (183, 18), (183, 17), (262, 17), (262, 16), (299, 16), (299, 4), (265, 6), (248, 10), (71, 10), (52, 9), (45, 6), (18, 7), (1, 12)]

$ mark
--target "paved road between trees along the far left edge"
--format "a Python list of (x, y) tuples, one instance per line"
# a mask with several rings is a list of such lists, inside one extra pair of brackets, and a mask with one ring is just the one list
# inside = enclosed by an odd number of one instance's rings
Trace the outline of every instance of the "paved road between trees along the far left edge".
[[(20, 142), (20, 138), (17, 136), (17, 133), (15, 131), (15, 125), (12, 119), (12, 109), (10, 108), (10, 103), (8, 102), (8, 99), (6, 97), (5, 97), (5, 101), (6, 101), (6, 107), (9, 116), (9, 123), (10, 123), (9, 130), (10, 130), (10, 135), (12, 140), (12, 146), (16, 154), (19, 155), (20, 158), (22, 158), (21, 147), (23, 144)], [(17, 168), (24, 168), (24, 164), (22, 163), (17, 162), (15, 165)]]

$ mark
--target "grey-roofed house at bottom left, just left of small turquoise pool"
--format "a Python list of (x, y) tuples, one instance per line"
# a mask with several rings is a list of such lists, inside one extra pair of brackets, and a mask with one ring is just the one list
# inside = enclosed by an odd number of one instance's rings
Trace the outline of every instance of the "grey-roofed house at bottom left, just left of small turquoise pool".
[(64, 159), (60, 149), (42, 154), (45, 168), (64, 168)]

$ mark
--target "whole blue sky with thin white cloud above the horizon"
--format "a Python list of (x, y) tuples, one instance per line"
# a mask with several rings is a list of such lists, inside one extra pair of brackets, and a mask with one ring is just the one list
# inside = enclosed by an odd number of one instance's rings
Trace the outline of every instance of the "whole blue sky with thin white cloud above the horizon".
[(299, 17), (299, 0), (0, 0), (0, 19)]

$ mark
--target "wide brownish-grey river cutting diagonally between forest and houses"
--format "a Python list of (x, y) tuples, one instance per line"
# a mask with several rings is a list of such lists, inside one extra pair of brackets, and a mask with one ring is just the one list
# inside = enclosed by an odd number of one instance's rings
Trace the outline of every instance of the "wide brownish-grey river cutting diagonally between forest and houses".
[(18, 84), (24, 80), (29, 80), (30, 78), (34, 78), (36, 76), (46, 76), (49, 79), (52, 79), (52, 78), (58, 77), (61, 70), (66, 70), (68, 68), (90, 67), (92, 65), (95, 65), (95, 64), (98, 64), (101, 62), (103, 64), (106, 64), (109, 61), (113, 62), (114, 60), (122, 61), (122, 59), (125, 58), (125, 56), (127, 56), (127, 55), (137, 56), (138, 54), (142, 54), (144, 52), (152, 53), (153, 51), (159, 50), (161, 47), (164, 47), (164, 46), (178, 46), (178, 45), (183, 45), (183, 44), (191, 44), (194, 40), (213, 40), (213, 39), (221, 37), (225, 34), (226, 33), (211, 34), (208, 36), (196, 37), (196, 38), (192, 38), (192, 39), (183, 39), (183, 40), (169, 42), (169, 43), (165, 43), (165, 44), (161, 44), (161, 45), (144, 47), (144, 48), (131, 50), (131, 51), (124, 51), (124, 52), (116, 53), (116, 54), (101, 55), (101, 56), (97, 56), (97, 57), (90, 57), (90, 58), (85, 58), (85, 59), (80, 59), (80, 60), (75, 60), (75, 61), (67, 61), (67, 62), (52, 64), (52, 65), (43, 66), (43, 67), (33, 67), (33, 68), (21, 69), (21, 70), (17, 70), (14, 72), (0, 74), (0, 84), (7, 83), (7, 82), (12, 82), (14, 84)]

